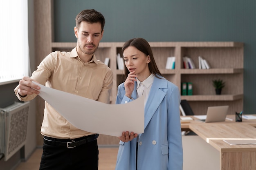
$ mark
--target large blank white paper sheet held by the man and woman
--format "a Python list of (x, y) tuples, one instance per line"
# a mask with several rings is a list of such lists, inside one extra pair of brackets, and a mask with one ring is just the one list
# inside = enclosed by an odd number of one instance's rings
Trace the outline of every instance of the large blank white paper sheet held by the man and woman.
[(105, 104), (33, 83), (40, 86), (40, 97), (76, 128), (116, 137), (123, 131), (144, 132), (144, 97), (127, 104)]

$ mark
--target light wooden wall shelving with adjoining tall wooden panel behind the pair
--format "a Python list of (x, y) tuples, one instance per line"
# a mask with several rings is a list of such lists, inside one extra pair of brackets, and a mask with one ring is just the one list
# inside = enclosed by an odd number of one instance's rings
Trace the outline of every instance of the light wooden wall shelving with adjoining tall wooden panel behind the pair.
[[(71, 51), (76, 42), (54, 42), (53, 0), (35, 0), (35, 56), (36, 65), (52, 51)], [(117, 53), (121, 54), (124, 42), (101, 42), (95, 53), (98, 60), (104, 62), (110, 58), (109, 67), (114, 73), (114, 84), (111, 93), (111, 103), (115, 103), (117, 86), (124, 81), (124, 71), (117, 69)], [(192, 82), (193, 95), (181, 96), (187, 99), (196, 115), (206, 114), (208, 106), (229, 105), (228, 114), (243, 110), (243, 43), (240, 42), (150, 42), (155, 61), (160, 72), (181, 90), (181, 82)], [(175, 69), (165, 69), (169, 56), (175, 56)], [(198, 56), (204, 57), (211, 69), (184, 69), (182, 57), (189, 56), (198, 68)], [(226, 86), (222, 95), (215, 95), (211, 85), (212, 79), (223, 79)], [(36, 99), (36, 131), (37, 145), (43, 145), (40, 135), (43, 120), (44, 101)], [(98, 144), (118, 144), (117, 137), (100, 135)]]

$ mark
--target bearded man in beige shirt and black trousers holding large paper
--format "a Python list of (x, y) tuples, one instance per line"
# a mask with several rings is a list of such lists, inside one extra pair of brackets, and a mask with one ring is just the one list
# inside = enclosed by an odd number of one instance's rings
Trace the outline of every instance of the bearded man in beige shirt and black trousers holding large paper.
[[(40, 87), (32, 83), (35, 81), (109, 104), (113, 73), (94, 55), (103, 36), (104, 24), (105, 18), (98, 11), (81, 11), (74, 27), (76, 48), (71, 52), (55, 51), (47, 55), (30, 78), (20, 80), (14, 90), (18, 99), (29, 101), (39, 94)], [(86, 108), (84, 110), (86, 112)], [(98, 169), (99, 134), (77, 129), (47, 102), (41, 134), (44, 144), (40, 170)]]

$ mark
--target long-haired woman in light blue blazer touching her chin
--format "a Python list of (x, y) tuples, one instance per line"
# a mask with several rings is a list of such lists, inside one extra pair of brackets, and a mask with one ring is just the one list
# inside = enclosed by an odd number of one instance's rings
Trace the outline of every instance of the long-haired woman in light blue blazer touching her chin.
[(178, 87), (159, 72), (150, 45), (143, 38), (125, 42), (122, 53), (126, 80), (118, 86), (116, 104), (140, 97), (137, 87), (143, 83), (144, 133), (122, 133), (116, 170), (182, 170)]

